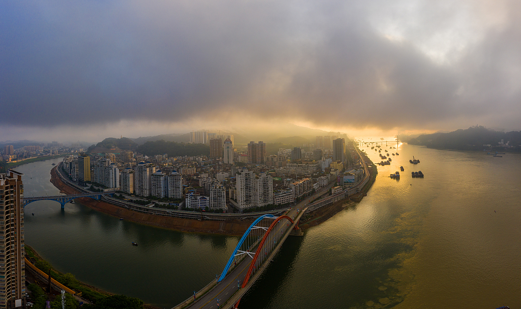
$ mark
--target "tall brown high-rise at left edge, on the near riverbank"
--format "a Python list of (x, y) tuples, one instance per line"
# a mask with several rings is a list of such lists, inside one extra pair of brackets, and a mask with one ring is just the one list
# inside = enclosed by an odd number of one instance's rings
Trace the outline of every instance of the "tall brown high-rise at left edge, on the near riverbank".
[(26, 305), (22, 176), (0, 174), (0, 308)]

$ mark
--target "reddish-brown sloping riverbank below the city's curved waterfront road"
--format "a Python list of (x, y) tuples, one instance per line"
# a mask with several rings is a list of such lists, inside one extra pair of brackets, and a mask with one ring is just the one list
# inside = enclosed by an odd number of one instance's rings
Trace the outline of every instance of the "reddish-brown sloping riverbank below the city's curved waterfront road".
[[(51, 182), (56, 188), (65, 194), (78, 194), (76, 189), (67, 186), (56, 175), (56, 167), (51, 170)], [(228, 221), (210, 221), (210, 220), (192, 220), (175, 217), (164, 217), (150, 214), (143, 214), (139, 212), (130, 211), (119, 206), (106, 203), (103, 201), (96, 201), (89, 197), (81, 197), (77, 199), (82, 205), (95, 209), (96, 211), (117, 217), (125, 220), (179, 230), (183, 232), (201, 232), (201, 233), (218, 233), (227, 235), (242, 235), (244, 231), (253, 222), (252, 220), (228, 220)]]

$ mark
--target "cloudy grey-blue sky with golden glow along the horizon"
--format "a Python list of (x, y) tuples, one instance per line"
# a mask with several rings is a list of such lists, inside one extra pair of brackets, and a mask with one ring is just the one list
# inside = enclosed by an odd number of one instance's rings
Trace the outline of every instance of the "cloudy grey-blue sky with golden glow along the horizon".
[(0, 141), (521, 129), (517, 0), (3, 0), (0, 43)]

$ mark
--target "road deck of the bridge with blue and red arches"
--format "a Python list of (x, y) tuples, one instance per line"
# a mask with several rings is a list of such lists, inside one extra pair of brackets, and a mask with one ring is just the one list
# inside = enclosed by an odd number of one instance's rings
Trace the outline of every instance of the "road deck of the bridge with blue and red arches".
[[(309, 199), (312, 199), (310, 197)], [(278, 244), (276, 248), (271, 252), (271, 254), (266, 259), (266, 262), (258, 269), (258, 271), (251, 276), (250, 280), (247, 282), (246, 287), (239, 288), (238, 286), (241, 285), (244, 281), (244, 277), (247, 273), (248, 268), (250, 267), (250, 264), (252, 262), (251, 257), (246, 257), (243, 259), (241, 263), (237, 267), (235, 267), (231, 273), (229, 273), (225, 279), (221, 280), (217, 286), (209, 290), (206, 294), (204, 294), (201, 298), (197, 299), (196, 302), (192, 303), (188, 307), (185, 307), (187, 309), (217, 309), (217, 308), (233, 308), (234, 305), (240, 301), (244, 293), (246, 293), (247, 290), (250, 289), (250, 287), (253, 285), (255, 280), (262, 274), (264, 269), (266, 269), (266, 266), (269, 264), (271, 259), (277, 254), (278, 250), (280, 249), (280, 246), (282, 243), (284, 243), (284, 240), (289, 236), (289, 234), (293, 231), (293, 228), (295, 225), (298, 224), (300, 218), (305, 213), (305, 209), (302, 209), (302, 205), (309, 202), (307, 199), (303, 202), (299, 203), (295, 207), (293, 207), (286, 215), (293, 219), (293, 224), (288, 229), (286, 234), (278, 241)], [(299, 211), (297, 212), (297, 208)], [(272, 233), (277, 233), (277, 231), (272, 231)], [(255, 251), (255, 250), (252, 250)], [(239, 282), (238, 282), (239, 280)], [(217, 306), (217, 300), (219, 300), (220, 306)], [(180, 308), (182, 307), (182, 304), (174, 307), (174, 308)]]

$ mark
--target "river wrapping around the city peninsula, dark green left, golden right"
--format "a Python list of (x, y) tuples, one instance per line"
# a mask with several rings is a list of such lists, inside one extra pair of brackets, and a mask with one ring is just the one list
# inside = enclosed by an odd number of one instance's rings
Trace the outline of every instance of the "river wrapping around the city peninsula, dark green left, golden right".
[[(521, 155), (381, 149), (400, 155), (378, 166), (362, 202), (290, 237), (240, 308), (521, 307)], [(53, 162), (15, 168), (26, 174), (25, 196), (59, 193), (49, 182)], [(401, 179), (389, 178), (400, 166)], [(411, 178), (417, 170), (425, 178)], [(55, 268), (157, 307), (214, 279), (237, 241), (121, 221), (79, 203), (26, 207), (26, 243)]]

